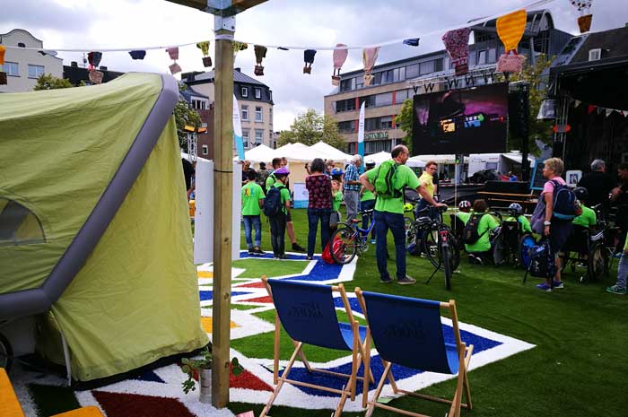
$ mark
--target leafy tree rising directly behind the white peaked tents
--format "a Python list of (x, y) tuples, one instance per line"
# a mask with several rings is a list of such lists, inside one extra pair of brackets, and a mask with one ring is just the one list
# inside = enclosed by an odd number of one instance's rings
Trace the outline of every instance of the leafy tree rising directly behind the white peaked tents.
[(328, 115), (320, 115), (315, 109), (308, 109), (297, 116), (290, 130), (283, 130), (279, 136), (279, 146), (286, 143), (303, 143), (308, 146), (323, 141), (336, 149), (344, 150), (345, 139), (338, 133), (336, 120)]

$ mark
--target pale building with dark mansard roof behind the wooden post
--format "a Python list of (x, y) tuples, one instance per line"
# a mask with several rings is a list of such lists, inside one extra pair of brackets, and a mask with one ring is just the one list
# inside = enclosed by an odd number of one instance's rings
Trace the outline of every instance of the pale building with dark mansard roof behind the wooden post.
[[(214, 105), (214, 71), (208, 73), (183, 74), (182, 82), (190, 87), (191, 94), (196, 91), (208, 99), (208, 106)], [(255, 78), (233, 70), (233, 94), (238, 100), (244, 149), (258, 144), (273, 146), (273, 91)], [(194, 104), (193, 104), (194, 109)], [(209, 129), (212, 130), (210, 123)], [(235, 149), (235, 144), (233, 146)], [(201, 155), (202, 156), (202, 155)]]

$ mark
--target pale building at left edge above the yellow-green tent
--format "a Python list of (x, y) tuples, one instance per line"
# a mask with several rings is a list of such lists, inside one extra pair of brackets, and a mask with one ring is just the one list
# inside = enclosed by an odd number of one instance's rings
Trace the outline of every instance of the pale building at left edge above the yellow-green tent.
[(0, 85), (0, 92), (32, 91), (40, 75), (63, 76), (63, 60), (57, 58), (57, 52), (43, 49), (43, 41), (27, 30), (13, 29), (0, 34), (0, 45), (6, 48), (3, 65), (6, 85)]

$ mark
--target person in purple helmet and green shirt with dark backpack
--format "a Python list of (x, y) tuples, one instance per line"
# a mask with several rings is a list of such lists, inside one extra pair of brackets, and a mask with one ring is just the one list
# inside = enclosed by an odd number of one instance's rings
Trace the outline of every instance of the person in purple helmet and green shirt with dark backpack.
[(266, 193), (264, 214), (270, 222), (270, 243), (273, 246), (275, 259), (287, 259), (285, 254), (285, 225), (290, 213), (290, 191), (285, 187), (290, 171), (281, 167), (275, 169), (273, 175), (277, 182)]

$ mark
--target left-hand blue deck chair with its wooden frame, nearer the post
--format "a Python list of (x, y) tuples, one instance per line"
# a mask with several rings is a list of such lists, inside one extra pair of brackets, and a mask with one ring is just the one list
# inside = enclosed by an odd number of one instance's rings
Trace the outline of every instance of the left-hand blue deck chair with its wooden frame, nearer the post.
[[(359, 326), (358, 322), (353, 319), (353, 313), (346, 296), (345, 287), (343, 284), (336, 287), (310, 282), (269, 280), (266, 277), (262, 277), (262, 280), (266, 285), (266, 290), (273, 299), (276, 310), (275, 362), (273, 367), (275, 391), (259, 416), (264, 417), (270, 411), (270, 407), (275, 402), (275, 398), (285, 382), (341, 395), (340, 403), (336, 407), (336, 413), (334, 413), (335, 417), (339, 416), (343, 412), (347, 397), (351, 396), (351, 401), (355, 399), (356, 379), (363, 379), (358, 377), (357, 373), (362, 364), (362, 359), (365, 356), (363, 343), (370, 337), (367, 327)], [(333, 291), (340, 292), (345, 304), (349, 323), (338, 322), (336, 307), (334, 306)], [(283, 326), (283, 329), (290, 336), (295, 347), (290, 361), (288, 361), (288, 364), (283, 370), (281, 378), (279, 378), (278, 373), (280, 326)], [(346, 375), (326, 369), (312, 368), (305, 358), (305, 354), (301, 351), (304, 344), (353, 352), (351, 374)], [(336, 389), (288, 379), (292, 364), (297, 359), (297, 356), (301, 359), (303, 365), (309, 372), (323, 372), (340, 378), (349, 378), (349, 380), (343, 389)], [(370, 377), (372, 381), (371, 372), (364, 370), (364, 375)], [(362, 404), (366, 406), (368, 380), (364, 387), (366, 391), (362, 392)]]

